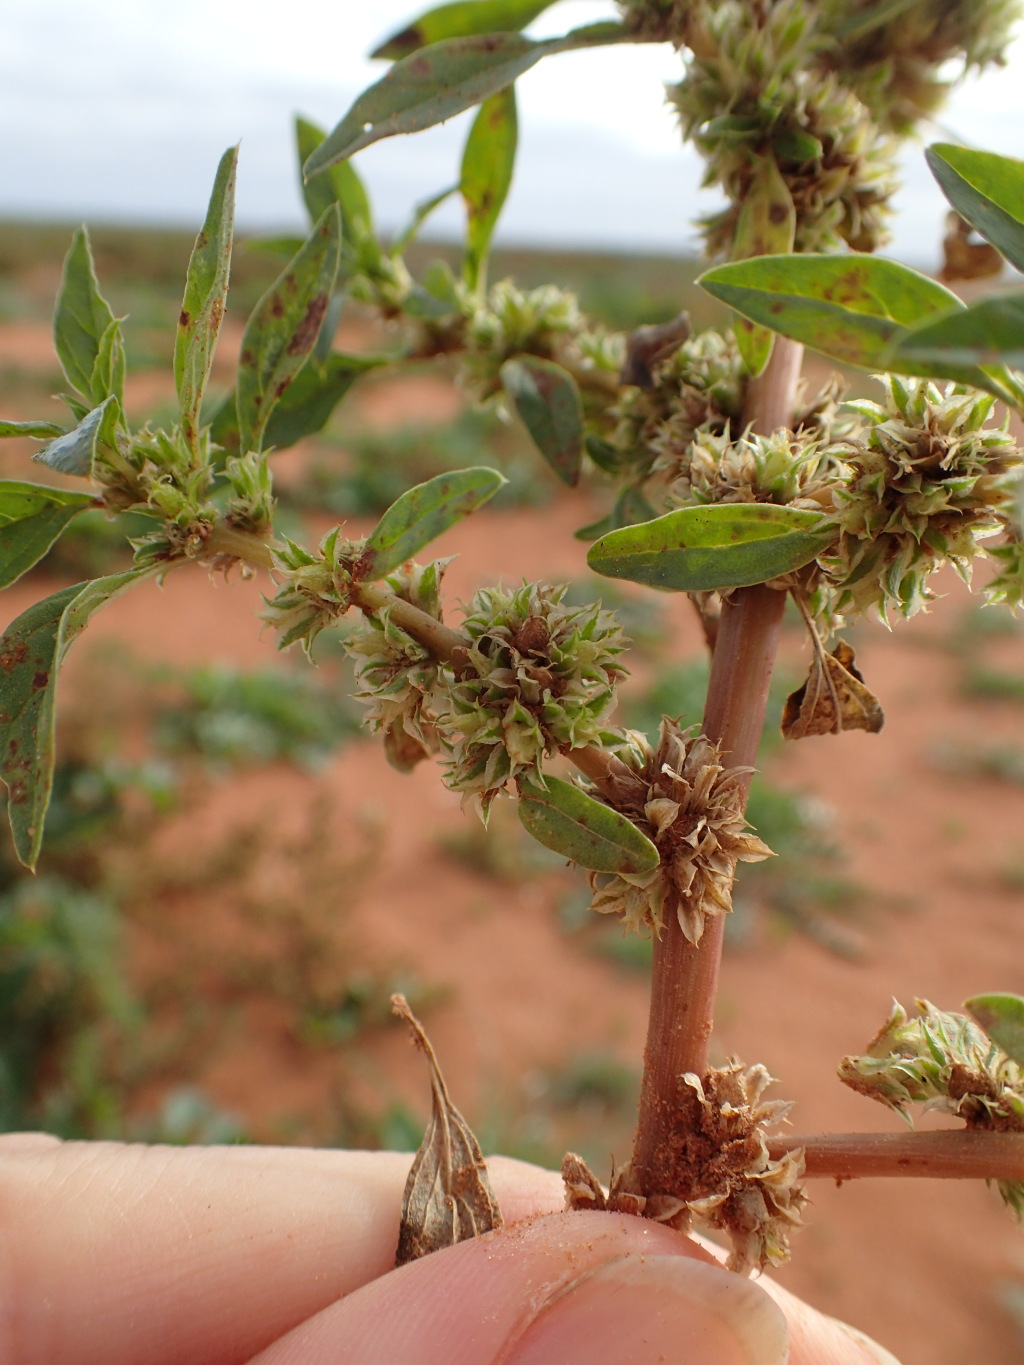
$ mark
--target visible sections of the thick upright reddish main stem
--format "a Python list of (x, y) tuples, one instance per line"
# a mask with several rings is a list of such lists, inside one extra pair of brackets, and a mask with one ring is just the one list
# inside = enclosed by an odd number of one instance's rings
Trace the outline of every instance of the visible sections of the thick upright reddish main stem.
[[(776, 337), (771, 360), (748, 392), (744, 415), (754, 431), (770, 435), (791, 425), (803, 347)], [(730, 767), (752, 767), (756, 759), (785, 597), (760, 584), (736, 590), (722, 605), (703, 733), (721, 747)], [(677, 1123), (680, 1077), (707, 1070), (724, 932), (724, 917), (709, 916), (700, 942), (692, 945), (679, 920), (669, 916), (654, 942), (632, 1158), (634, 1177), (646, 1193), (670, 1193), (659, 1189), (658, 1178)]]

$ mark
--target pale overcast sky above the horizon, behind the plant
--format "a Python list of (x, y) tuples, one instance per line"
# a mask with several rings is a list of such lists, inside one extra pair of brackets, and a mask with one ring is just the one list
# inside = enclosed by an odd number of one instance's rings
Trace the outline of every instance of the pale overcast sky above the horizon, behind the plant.
[[(242, 141), (243, 228), (303, 218), (291, 142), (296, 112), (332, 127), (384, 66), (366, 53), (426, 5), (406, 0), (23, 0), (0, 52), (0, 216), (198, 227), (217, 160)], [(530, 30), (606, 18), (561, 0)], [(943, 111), (941, 132), (1021, 154), (1024, 48)], [(679, 143), (664, 82), (668, 46), (541, 61), (519, 81), (520, 152), (500, 233), (509, 243), (673, 251), (692, 246), (700, 162)], [(358, 157), (380, 224), (456, 179), (466, 117)], [(934, 265), (943, 202), (920, 147), (890, 254)], [(459, 231), (459, 207), (434, 220)]]

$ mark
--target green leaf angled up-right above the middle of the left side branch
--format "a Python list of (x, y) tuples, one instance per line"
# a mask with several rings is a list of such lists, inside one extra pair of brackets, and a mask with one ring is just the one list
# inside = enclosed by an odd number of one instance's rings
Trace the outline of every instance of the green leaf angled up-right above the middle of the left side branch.
[(474, 467), (438, 474), (408, 489), (367, 536), (363, 577), (386, 577), (449, 526), (493, 498), (505, 482), (494, 470)]

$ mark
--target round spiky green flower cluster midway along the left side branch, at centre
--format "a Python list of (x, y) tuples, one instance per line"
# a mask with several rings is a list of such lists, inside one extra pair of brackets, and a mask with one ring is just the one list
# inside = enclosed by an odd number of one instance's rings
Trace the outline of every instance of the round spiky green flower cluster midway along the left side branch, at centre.
[(463, 632), (466, 659), (437, 717), (448, 785), (486, 816), (520, 774), (543, 781), (542, 760), (590, 744), (620, 747), (605, 717), (625, 669), (625, 640), (599, 605), (571, 606), (565, 587), (481, 588)]

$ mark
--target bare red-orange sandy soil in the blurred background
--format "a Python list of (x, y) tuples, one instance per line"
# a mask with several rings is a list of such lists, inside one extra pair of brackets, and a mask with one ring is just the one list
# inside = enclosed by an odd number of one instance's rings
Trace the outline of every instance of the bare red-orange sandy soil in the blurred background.
[[(0, 333), (0, 358), (8, 344), (10, 328)], [(410, 420), (433, 418), (456, 400), (425, 381), (367, 386), (360, 401), (367, 415)], [(584, 546), (571, 532), (591, 516), (579, 497), (561, 498), (539, 516), (478, 513), (436, 547), (457, 554), (449, 601), (466, 599), (482, 581), (583, 576)], [(261, 587), (266, 583), (175, 573), (162, 588), (146, 586), (112, 603), (89, 627), (89, 639), (127, 642), (143, 658), (177, 665), (266, 663), (272, 642), (255, 617)], [(862, 960), (762, 925), (725, 964), (720, 1055), (765, 1062), (781, 1077), (780, 1095), (796, 1102), (796, 1132), (901, 1127), (834, 1080), (840, 1057), (867, 1044), (893, 996), (909, 1006), (922, 995), (956, 1009), (983, 990), (1024, 992), (1023, 897), (999, 875), (1024, 859), (1024, 786), (950, 774), (934, 762), (942, 744), (1023, 744), (1021, 713), (957, 696), (963, 663), (943, 646), (967, 594), (956, 580), (942, 587), (949, 595), (927, 617), (892, 635), (877, 625), (856, 632), (859, 665), (886, 710), (883, 733), (806, 740), (771, 760), (773, 781), (815, 793), (834, 811), (849, 850), (845, 871), (870, 891)], [(7, 594), (4, 618), (41, 590), (33, 581)], [(457, 620), (455, 610), (449, 616)], [(700, 650), (685, 602), (668, 601), (665, 622), (673, 655)], [(804, 657), (796, 636), (789, 648)], [(1008, 637), (998, 650), (1001, 666), (1024, 673), (1024, 636)], [(71, 696), (82, 646), (78, 652)], [(423, 981), (446, 987), (426, 1022), (449, 1088), (471, 1119), (493, 1111), (496, 1097), (498, 1106), (502, 1096), (515, 1106), (538, 1076), (583, 1050), (639, 1059), (646, 983), (582, 951), (558, 928), (553, 904), (564, 893), (561, 879), (500, 885), (438, 849), (438, 834), (463, 830), (471, 818), (460, 815), (429, 764), (400, 775), (377, 744), (360, 741), (321, 777), (283, 766), (261, 770), (214, 788), (199, 809), (171, 820), (161, 844), (187, 865), (218, 830), (266, 812), (298, 835), (318, 793), (330, 805), (341, 868), (339, 923), (319, 925), (325, 961), (358, 943), (362, 960), (400, 961)], [(373, 867), (352, 871), (367, 839), (377, 841)], [(280, 867), (268, 875), (287, 886)], [(132, 931), (141, 979), (161, 953), (180, 957), (180, 943), (190, 942), (193, 957), (179, 962), (187, 994), (190, 971), (201, 975), (208, 956), (229, 953), (251, 931), (223, 891), (198, 887), (172, 897)], [(280, 1136), (273, 1123), (281, 1114), (302, 1115), (299, 1134), (315, 1132), (336, 1100), (336, 1055), (299, 1050), (287, 1011), (273, 999), (231, 1007), (236, 1026), (197, 1057), (190, 1080), (244, 1115), (257, 1136)], [(347, 1069), (348, 1084), (425, 1112), (426, 1078), (400, 1031), (380, 1029), (355, 1046), (360, 1061)], [(614, 1153), (620, 1162), (627, 1155)], [(993, 1190), (875, 1181), (841, 1189), (815, 1182), (811, 1193), (808, 1227), (795, 1239), (793, 1264), (780, 1272), (789, 1289), (875, 1335), (904, 1365), (1021, 1360), (1021, 1336), (999, 1294), (1006, 1283), (1024, 1284), (1024, 1241)]]

